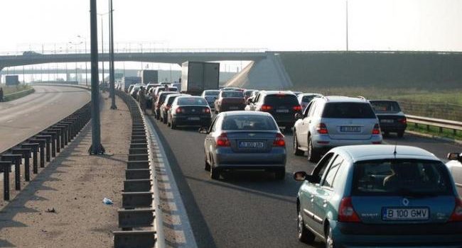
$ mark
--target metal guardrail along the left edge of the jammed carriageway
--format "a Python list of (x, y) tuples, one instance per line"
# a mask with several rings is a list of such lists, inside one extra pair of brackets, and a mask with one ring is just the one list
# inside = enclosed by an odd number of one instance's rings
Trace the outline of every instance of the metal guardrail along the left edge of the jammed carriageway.
[(123, 91), (115, 91), (129, 107), (131, 143), (125, 171), (119, 227), (114, 231), (114, 247), (165, 247), (159, 188), (154, 176), (151, 136), (138, 103)]

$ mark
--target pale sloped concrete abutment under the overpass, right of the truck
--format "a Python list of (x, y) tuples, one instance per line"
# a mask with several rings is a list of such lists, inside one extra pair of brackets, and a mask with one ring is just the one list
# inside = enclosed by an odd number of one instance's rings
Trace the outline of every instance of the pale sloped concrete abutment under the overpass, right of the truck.
[(267, 52), (267, 57), (251, 62), (227, 81), (226, 86), (246, 89), (290, 89), (291, 79), (278, 54)]

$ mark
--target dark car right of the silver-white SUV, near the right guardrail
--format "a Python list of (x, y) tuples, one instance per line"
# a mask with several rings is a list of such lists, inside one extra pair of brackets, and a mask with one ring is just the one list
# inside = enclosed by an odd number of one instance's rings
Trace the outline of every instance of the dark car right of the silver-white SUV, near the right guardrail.
[(380, 130), (384, 135), (397, 133), (398, 137), (403, 137), (407, 128), (407, 119), (399, 107), (399, 103), (390, 100), (370, 100), (369, 102), (379, 119)]

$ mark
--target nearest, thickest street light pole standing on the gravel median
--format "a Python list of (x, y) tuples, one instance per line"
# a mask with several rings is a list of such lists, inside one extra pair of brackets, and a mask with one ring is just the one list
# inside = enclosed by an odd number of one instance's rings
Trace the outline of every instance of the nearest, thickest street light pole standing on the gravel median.
[(92, 146), (90, 154), (104, 154), (100, 130), (100, 82), (98, 79), (98, 28), (96, 0), (90, 0), (90, 49), (92, 68)]

